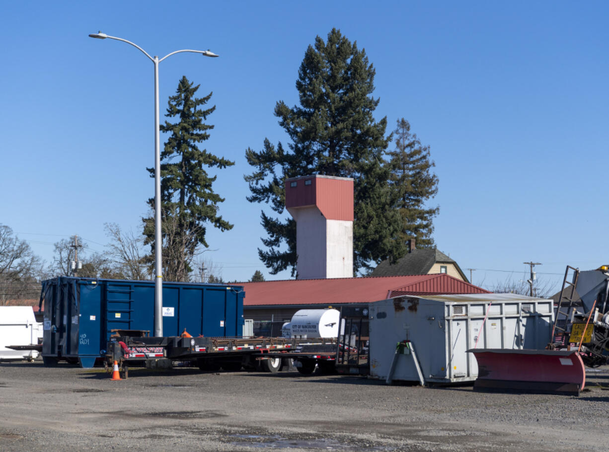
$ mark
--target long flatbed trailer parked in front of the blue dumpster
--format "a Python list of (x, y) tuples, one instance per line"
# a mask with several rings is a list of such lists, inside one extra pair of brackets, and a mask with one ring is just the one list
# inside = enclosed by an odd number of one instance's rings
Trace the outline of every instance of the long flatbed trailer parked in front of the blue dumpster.
[(169, 367), (169, 361), (192, 362), (202, 371), (260, 369), (278, 372), (294, 364), (298, 372), (334, 372), (337, 339), (284, 337), (143, 337), (118, 336), (108, 342), (104, 365), (114, 361), (124, 378), (130, 367)]

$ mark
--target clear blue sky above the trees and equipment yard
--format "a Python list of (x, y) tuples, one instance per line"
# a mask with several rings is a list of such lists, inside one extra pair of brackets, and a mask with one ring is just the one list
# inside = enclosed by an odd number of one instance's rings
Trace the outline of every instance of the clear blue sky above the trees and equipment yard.
[(183, 75), (213, 91), (205, 147), (236, 161), (215, 185), (234, 228), (209, 228), (208, 254), (225, 280), (289, 277), (258, 260), (244, 152), (287, 142), (275, 102), (297, 102), (306, 47), (337, 27), (375, 65), (387, 132), (404, 117), (431, 146), (438, 249), (477, 284), (526, 279), (533, 260), (558, 286), (566, 264), (609, 263), (608, 18), (602, 1), (3, 2), (0, 223), (47, 261), (62, 236), (102, 250), (104, 222), (137, 228), (153, 194), (153, 66), (88, 34), (159, 56), (211, 49), (220, 58), (160, 65), (162, 108)]

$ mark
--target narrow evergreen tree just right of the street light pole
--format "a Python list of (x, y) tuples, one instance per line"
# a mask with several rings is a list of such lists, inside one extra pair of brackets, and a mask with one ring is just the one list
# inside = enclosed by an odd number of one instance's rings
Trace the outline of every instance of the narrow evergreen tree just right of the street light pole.
[[(161, 132), (171, 135), (161, 152), (161, 210), (163, 233), (163, 273), (167, 281), (188, 281), (192, 271), (191, 262), (202, 244), (208, 247), (205, 239), (206, 225), (212, 224), (222, 231), (230, 230), (233, 225), (217, 213), (218, 205), (224, 198), (214, 192), (211, 177), (206, 168), (226, 168), (234, 161), (216, 157), (197, 144), (209, 138), (208, 131), (213, 125), (205, 121), (216, 107), (202, 108), (211, 99), (209, 93), (197, 98), (199, 86), (194, 86), (182, 77), (175, 96), (169, 97), (167, 118)], [(154, 169), (149, 168), (151, 177)], [(149, 199), (151, 207), (154, 199)], [(145, 242), (154, 250), (154, 220), (144, 219)]]

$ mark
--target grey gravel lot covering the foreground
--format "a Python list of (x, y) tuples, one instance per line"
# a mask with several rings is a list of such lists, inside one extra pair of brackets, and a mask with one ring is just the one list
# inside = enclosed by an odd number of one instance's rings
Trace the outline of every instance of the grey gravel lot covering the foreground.
[(0, 363), (0, 450), (599, 450), (609, 369), (580, 397), (385, 386), (351, 376)]

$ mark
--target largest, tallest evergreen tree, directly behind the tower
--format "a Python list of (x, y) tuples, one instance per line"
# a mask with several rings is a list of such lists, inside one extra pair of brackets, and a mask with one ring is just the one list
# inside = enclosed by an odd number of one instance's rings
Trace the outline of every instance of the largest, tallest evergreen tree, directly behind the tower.
[[(390, 208), (389, 168), (384, 154), (387, 119), (375, 121), (379, 99), (372, 97), (375, 69), (365, 51), (337, 29), (326, 42), (319, 36), (309, 46), (298, 70), (296, 88), (300, 105), (275, 105), (275, 116), (290, 137), (288, 149), (268, 139), (245, 157), (255, 171), (245, 176), (250, 202), (266, 202), (276, 214), (284, 211), (284, 180), (322, 174), (353, 177), (354, 270), (382, 259), (395, 260), (405, 252), (400, 238), (399, 214)], [(296, 226), (292, 219), (262, 211), (266, 249), (258, 253), (272, 274), (296, 265)]]

